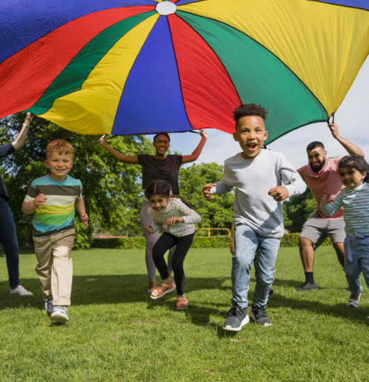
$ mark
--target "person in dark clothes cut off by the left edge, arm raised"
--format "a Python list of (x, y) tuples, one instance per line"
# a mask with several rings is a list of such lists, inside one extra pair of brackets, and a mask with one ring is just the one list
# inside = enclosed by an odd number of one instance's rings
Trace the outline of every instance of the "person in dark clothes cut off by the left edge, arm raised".
[[(0, 146), (0, 158), (13, 153), (22, 147), (29, 131), (29, 125), (33, 119), (32, 113), (27, 113), (21, 131), (17, 138), (11, 143)], [(21, 296), (32, 296), (33, 293), (26, 290), (19, 284), (19, 247), (17, 232), (13, 215), (8, 205), (9, 195), (6, 192), (5, 184), (0, 176), (0, 242), (6, 256), (6, 265), (8, 267), (10, 294), (20, 294)]]

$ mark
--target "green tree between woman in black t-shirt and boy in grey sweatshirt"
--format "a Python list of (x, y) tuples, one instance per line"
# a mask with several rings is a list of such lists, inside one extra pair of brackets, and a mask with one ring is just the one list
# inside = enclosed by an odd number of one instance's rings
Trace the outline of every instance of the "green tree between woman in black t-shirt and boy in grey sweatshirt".
[(223, 178), (223, 166), (217, 163), (201, 163), (180, 169), (180, 195), (195, 206), (201, 215), (200, 227), (228, 228), (233, 221), (234, 192), (217, 195), (211, 201), (203, 197), (203, 185)]

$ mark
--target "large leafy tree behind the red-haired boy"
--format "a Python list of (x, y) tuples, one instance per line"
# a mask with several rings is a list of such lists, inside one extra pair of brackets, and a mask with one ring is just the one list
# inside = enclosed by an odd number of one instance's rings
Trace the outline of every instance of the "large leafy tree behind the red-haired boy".
[[(11, 142), (24, 114), (18, 113), (0, 120), (0, 144)], [(86, 230), (77, 222), (77, 247), (88, 247), (93, 231), (142, 234), (139, 225), (141, 167), (121, 163), (98, 144), (98, 137), (79, 135), (59, 128), (45, 119), (34, 117), (26, 144), (2, 158), (1, 174), (10, 194), (20, 243), (31, 242), (31, 216), (21, 210), (27, 188), (34, 178), (47, 174), (45, 147), (56, 139), (68, 140), (74, 147), (74, 166), (70, 175), (83, 185), (90, 226)], [(152, 152), (150, 140), (141, 135), (117, 136), (109, 142), (123, 153), (136, 155)]]

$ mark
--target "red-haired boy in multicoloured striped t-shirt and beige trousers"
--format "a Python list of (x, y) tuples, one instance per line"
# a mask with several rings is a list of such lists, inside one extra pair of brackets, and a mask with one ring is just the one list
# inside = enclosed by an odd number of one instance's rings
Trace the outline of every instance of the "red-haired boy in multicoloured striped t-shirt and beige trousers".
[(68, 173), (74, 149), (66, 140), (54, 140), (46, 147), (45, 165), (50, 173), (32, 181), (22, 205), (33, 214), (33, 244), (38, 265), (36, 274), (45, 297), (45, 312), (52, 322), (68, 321), (72, 291), (72, 251), (75, 226), (74, 209), (88, 226), (81, 181)]

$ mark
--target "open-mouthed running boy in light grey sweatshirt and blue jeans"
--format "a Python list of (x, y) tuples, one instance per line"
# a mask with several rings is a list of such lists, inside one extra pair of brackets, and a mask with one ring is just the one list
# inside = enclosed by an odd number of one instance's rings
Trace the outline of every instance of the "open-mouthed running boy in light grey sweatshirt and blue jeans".
[[(249, 322), (248, 292), (252, 263), (256, 288), (251, 318), (270, 326), (265, 306), (274, 281), (274, 265), (283, 236), (281, 201), (306, 189), (304, 181), (288, 160), (276, 151), (262, 149), (267, 110), (255, 103), (234, 111), (233, 138), (242, 149), (224, 163), (224, 176), (218, 183), (204, 185), (205, 199), (235, 188), (235, 254), (232, 258), (232, 308), (223, 324), (226, 331), (240, 331)], [(282, 185), (283, 183), (283, 185)]]

